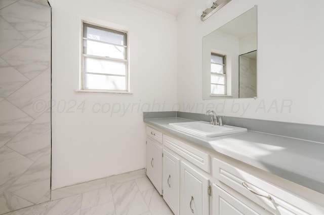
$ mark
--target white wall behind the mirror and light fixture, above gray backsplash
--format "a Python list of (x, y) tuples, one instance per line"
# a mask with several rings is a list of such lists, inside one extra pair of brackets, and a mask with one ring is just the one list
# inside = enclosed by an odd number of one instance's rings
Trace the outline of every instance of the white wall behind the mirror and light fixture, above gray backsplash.
[[(192, 1), (177, 20), (180, 110), (204, 113), (215, 109), (225, 116), (324, 125), (324, 26), (319, 24), (324, 20), (321, 10), (324, 2), (232, 0), (201, 22), (195, 14), (199, 8), (205, 9), (205, 2)], [(258, 5), (258, 98), (204, 101), (201, 99), (203, 36), (255, 5)], [(184, 77), (186, 81), (182, 81)]]

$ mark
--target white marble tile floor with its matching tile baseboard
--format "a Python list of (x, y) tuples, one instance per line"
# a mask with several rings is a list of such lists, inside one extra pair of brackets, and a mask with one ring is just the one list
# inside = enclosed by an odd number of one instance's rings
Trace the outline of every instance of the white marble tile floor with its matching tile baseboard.
[(173, 214), (144, 169), (52, 190), (51, 196), (49, 202), (5, 214)]

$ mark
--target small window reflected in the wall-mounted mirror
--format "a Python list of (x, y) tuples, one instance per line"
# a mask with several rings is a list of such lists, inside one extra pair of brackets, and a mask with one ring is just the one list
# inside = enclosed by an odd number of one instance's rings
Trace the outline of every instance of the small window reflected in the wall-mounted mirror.
[(226, 95), (226, 56), (211, 55), (211, 94)]

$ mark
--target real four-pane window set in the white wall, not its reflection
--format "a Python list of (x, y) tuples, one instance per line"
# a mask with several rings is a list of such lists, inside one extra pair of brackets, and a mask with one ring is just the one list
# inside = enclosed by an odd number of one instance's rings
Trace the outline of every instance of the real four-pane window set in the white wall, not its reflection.
[(82, 90), (129, 91), (127, 32), (83, 22)]

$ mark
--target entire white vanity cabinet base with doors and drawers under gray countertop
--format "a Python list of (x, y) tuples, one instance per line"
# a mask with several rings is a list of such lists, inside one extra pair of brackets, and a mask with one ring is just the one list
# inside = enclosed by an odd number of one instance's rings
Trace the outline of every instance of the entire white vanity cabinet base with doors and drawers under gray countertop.
[(146, 136), (146, 174), (175, 215), (324, 215), (313, 190), (152, 127)]

